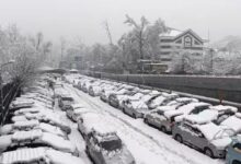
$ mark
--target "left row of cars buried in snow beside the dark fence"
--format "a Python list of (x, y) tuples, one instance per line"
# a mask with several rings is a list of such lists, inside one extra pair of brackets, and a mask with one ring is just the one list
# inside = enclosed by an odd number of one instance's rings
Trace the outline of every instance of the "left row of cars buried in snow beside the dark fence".
[(68, 139), (69, 125), (53, 110), (54, 92), (47, 77), (23, 90), (10, 105), (9, 119), (0, 128), (1, 164), (83, 164)]

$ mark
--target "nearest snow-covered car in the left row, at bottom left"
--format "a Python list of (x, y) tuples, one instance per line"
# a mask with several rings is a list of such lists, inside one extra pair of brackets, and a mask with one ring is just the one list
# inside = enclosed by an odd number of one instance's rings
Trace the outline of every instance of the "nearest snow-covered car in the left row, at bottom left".
[(0, 155), (1, 164), (69, 164), (70, 162), (84, 164), (80, 157), (46, 147), (22, 148)]

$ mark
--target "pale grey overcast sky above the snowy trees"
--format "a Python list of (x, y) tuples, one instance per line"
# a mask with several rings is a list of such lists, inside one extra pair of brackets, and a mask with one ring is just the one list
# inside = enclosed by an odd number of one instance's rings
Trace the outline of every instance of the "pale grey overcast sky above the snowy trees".
[(125, 14), (136, 20), (158, 17), (168, 26), (192, 28), (203, 38), (217, 40), (241, 36), (241, 0), (0, 0), (0, 25), (15, 23), (22, 33), (58, 42), (79, 36), (90, 45), (107, 43), (103, 22), (108, 21), (114, 40), (129, 30)]

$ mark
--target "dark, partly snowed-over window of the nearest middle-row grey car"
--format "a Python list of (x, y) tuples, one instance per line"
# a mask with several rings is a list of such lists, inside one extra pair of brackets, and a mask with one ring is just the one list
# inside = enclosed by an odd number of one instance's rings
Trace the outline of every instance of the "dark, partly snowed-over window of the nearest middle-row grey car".
[(122, 140), (117, 137), (104, 140), (101, 142), (101, 148), (107, 151), (122, 149)]

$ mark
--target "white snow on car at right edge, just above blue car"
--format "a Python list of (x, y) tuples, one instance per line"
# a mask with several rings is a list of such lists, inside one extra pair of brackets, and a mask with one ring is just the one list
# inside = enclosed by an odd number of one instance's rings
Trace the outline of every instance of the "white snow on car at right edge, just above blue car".
[(231, 128), (236, 132), (240, 132), (241, 131), (241, 119), (236, 117), (236, 116), (228, 117), (220, 125), (221, 126), (226, 126), (228, 128)]

